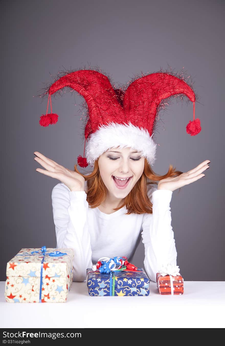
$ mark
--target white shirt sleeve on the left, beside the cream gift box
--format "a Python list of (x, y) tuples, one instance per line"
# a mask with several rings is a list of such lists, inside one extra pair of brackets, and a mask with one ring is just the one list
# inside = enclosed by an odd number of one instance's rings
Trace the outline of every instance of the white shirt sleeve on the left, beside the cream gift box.
[(52, 209), (57, 248), (72, 248), (73, 281), (85, 281), (92, 267), (92, 249), (88, 231), (88, 202), (85, 191), (70, 191), (63, 183), (52, 190)]

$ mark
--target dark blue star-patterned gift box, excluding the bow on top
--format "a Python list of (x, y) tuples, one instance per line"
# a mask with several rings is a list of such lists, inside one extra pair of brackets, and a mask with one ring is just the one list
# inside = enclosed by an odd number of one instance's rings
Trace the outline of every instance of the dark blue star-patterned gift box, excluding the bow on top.
[(87, 268), (87, 288), (91, 296), (147, 296), (149, 278), (143, 268), (137, 271), (112, 271), (100, 273)]

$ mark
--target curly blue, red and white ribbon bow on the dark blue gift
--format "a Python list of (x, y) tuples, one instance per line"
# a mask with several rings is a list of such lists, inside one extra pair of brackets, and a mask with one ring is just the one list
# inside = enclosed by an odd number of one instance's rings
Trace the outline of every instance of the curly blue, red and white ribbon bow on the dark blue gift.
[[(119, 266), (118, 266), (119, 265)], [(118, 266), (116, 268), (116, 266)], [(128, 272), (140, 272), (137, 270), (137, 267), (135, 265), (129, 263), (127, 261), (127, 257), (114, 257), (114, 258), (109, 258), (109, 257), (101, 257), (99, 258), (98, 262), (96, 265), (92, 266), (92, 270), (96, 271), (99, 270), (100, 273), (110, 273), (110, 295), (114, 296), (115, 295), (115, 275), (113, 274), (114, 272), (119, 272), (119, 271), (128, 271)]]

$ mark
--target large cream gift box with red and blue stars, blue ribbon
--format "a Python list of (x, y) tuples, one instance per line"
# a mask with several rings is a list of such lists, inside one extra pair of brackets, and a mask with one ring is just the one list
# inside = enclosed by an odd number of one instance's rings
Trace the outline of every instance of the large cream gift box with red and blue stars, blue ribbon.
[(21, 249), (6, 267), (8, 303), (63, 303), (73, 280), (73, 249)]

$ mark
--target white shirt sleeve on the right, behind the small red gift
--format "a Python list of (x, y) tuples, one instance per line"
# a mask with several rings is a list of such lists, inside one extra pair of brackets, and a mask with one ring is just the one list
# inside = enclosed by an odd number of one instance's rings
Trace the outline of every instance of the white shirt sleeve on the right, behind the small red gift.
[(172, 191), (151, 187), (149, 195), (153, 213), (145, 214), (142, 222), (142, 243), (145, 245), (145, 270), (151, 281), (162, 265), (176, 265), (176, 247), (171, 226), (170, 201)]

